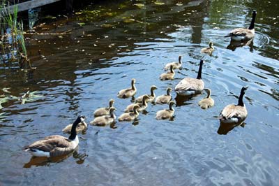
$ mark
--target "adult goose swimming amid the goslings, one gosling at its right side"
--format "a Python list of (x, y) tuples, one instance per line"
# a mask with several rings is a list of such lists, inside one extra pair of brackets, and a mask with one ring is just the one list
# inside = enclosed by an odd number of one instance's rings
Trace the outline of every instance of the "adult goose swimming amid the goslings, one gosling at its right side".
[(190, 96), (199, 94), (204, 90), (204, 81), (202, 80), (202, 64), (204, 61), (201, 59), (199, 62), (199, 72), (197, 78), (184, 78), (175, 86), (175, 92), (181, 96)]

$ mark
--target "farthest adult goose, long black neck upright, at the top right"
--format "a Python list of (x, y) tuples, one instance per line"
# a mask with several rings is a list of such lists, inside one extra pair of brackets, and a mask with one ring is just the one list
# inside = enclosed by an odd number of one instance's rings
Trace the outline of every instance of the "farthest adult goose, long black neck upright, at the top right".
[(257, 12), (253, 10), (252, 13), (252, 20), (248, 29), (238, 28), (234, 29), (227, 34), (225, 37), (230, 37), (234, 41), (246, 41), (254, 38), (255, 36), (255, 19), (256, 19)]

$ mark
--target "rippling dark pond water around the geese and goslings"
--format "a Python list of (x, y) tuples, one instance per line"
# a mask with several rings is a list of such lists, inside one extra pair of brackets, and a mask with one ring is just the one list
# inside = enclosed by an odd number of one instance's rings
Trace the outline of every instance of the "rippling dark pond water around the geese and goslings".
[[(223, 36), (248, 27), (257, 10), (256, 36), (234, 47)], [(27, 34), (36, 70), (0, 71), (0, 185), (278, 185), (279, 182), (279, 3), (271, 1), (122, 1), (77, 10), (73, 17), (45, 18)], [(56, 24), (57, 23), (57, 24)], [(54, 25), (56, 24), (56, 25)], [(63, 33), (63, 34), (61, 34)], [(200, 49), (213, 41), (212, 57)], [(167, 62), (182, 56), (174, 80), (160, 81)], [(182, 78), (202, 78), (216, 105), (202, 110), (204, 97), (176, 98), (175, 118), (155, 120), (167, 105), (152, 105), (136, 123), (116, 129), (93, 127), (80, 134), (77, 152), (59, 159), (32, 159), (22, 147), (61, 130), (77, 115), (115, 99), (116, 115), (130, 99), (119, 90), (137, 80), (137, 94), (174, 89)], [(237, 103), (241, 87), (246, 125), (219, 129), (218, 114)], [(9, 89), (3, 89), (9, 88)], [(3, 90), (2, 90), (3, 89)], [(22, 104), (27, 91), (33, 98)]]

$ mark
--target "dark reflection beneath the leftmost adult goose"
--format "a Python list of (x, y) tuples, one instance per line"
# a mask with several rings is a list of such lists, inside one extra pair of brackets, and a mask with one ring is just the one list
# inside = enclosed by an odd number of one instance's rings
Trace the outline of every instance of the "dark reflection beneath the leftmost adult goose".
[(69, 155), (63, 155), (59, 157), (34, 157), (32, 156), (28, 163), (24, 164), (23, 168), (31, 168), (31, 166), (48, 166), (51, 163), (63, 162), (65, 159), (73, 155), (77, 159), (77, 164), (83, 164), (88, 155), (86, 153), (79, 154), (77, 151), (70, 153)]

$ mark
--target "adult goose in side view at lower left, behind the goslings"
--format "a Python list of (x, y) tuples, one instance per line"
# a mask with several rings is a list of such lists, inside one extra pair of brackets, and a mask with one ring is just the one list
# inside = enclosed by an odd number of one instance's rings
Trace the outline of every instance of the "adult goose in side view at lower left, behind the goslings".
[(57, 157), (73, 152), (79, 143), (79, 138), (75, 129), (77, 124), (84, 121), (84, 118), (84, 115), (77, 117), (68, 138), (60, 135), (47, 136), (42, 140), (25, 146), (24, 150), (36, 157)]

